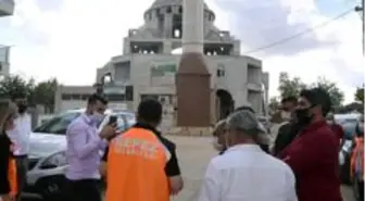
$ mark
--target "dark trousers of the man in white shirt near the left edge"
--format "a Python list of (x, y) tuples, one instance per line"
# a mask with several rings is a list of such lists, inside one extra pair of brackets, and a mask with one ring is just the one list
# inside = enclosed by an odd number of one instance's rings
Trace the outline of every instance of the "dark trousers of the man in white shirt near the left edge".
[(28, 172), (28, 156), (27, 155), (20, 155), (15, 156), (16, 162), (16, 180), (17, 180), (17, 196), (16, 200), (21, 201), (22, 191), (26, 185), (26, 175)]

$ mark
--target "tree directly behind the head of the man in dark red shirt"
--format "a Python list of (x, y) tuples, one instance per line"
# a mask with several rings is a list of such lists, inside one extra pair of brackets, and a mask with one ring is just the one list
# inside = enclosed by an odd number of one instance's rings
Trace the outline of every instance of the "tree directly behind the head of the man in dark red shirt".
[(312, 87), (325, 89), (330, 96), (332, 108), (337, 109), (342, 105), (344, 93), (337, 87), (336, 83), (329, 81), (324, 77), (318, 77), (318, 80), (312, 84)]

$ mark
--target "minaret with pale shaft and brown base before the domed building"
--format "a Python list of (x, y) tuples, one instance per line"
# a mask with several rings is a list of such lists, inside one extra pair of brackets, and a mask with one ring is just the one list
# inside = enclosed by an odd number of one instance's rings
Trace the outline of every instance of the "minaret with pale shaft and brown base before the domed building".
[(184, 0), (182, 55), (176, 75), (178, 127), (211, 125), (211, 75), (203, 54), (203, 0)]

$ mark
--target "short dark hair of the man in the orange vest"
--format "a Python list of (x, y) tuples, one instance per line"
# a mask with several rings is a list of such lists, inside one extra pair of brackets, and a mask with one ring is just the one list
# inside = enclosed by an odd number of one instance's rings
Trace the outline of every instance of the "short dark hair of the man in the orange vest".
[(154, 99), (144, 99), (138, 105), (137, 115), (146, 122), (159, 123), (162, 118), (162, 104)]

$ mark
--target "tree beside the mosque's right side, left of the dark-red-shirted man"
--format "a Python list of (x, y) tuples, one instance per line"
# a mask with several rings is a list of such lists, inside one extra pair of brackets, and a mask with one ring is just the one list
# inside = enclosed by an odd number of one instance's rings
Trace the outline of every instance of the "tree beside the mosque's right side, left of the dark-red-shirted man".
[(300, 91), (304, 88), (306, 88), (306, 85), (299, 77), (290, 78), (288, 73), (280, 73), (278, 90), (281, 98), (290, 96), (298, 97)]

